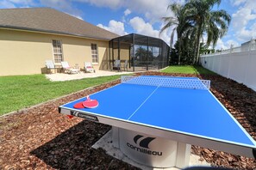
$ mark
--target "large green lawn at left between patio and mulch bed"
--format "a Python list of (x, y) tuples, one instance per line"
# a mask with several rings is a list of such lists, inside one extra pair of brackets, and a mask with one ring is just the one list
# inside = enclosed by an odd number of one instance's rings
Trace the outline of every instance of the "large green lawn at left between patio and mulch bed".
[(44, 75), (0, 77), (0, 115), (71, 94), (120, 76), (103, 76), (66, 82), (50, 82)]

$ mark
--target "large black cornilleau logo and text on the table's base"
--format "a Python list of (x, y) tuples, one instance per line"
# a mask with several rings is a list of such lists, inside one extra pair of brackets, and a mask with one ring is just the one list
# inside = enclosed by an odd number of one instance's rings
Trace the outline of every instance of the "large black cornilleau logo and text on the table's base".
[(137, 152), (140, 152), (142, 154), (159, 155), (159, 156), (163, 154), (162, 152), (149, 150), (149, 148), (148, 148), (148, 144), (151, 143), (155, 139), (155, 137), (146, 137), (146, 138), (140, 140), (140, 143), (137, 143), (139, 141), (139, 139), (142, 138), (142, 137), (143, 136), (141, 136), (141, 135), (137, 135), (137, 136), (134, 137), (134, 143), (139, 144), (140, 147), (142, 147), (142, 148), (136, 147), (136, 146), (132, 145), (131, 143), (127, 143), (127, 146), (130, 149), (134, 149)]

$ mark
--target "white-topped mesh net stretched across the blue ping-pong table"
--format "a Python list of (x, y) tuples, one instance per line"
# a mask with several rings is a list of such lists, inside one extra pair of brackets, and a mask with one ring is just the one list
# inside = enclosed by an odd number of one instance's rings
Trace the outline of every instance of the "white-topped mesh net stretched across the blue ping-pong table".
[(121, 76), (122, 83), (159, 86), (167, 88), (209, 89), (209, 80), (174, 77)]

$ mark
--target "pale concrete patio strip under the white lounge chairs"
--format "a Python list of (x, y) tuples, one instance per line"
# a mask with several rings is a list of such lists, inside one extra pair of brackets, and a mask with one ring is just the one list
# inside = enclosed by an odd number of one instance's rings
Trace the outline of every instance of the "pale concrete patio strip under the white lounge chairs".
[(46, 74), (46, 77), (52, 82), (60, 82), (60, 81), (78, 80), (83, 78), (92, 78), (97, 76), (126, 75), (131, 73), (134, 73), (134, 72), (97, 70), (96, 73), (84, 73), (83, 71), (81, 71), (78, 74), (65, 74), (65, 73)]

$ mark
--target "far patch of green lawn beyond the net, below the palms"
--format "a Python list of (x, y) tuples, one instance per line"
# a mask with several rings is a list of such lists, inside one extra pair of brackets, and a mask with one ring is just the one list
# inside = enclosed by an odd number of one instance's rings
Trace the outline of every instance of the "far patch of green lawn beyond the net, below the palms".
[(172, 65), (165, 70), (161, 70), (165, 73), (182, 73), (182, 74), (205, 74), (205, 75), (215, 75), (214, 72), (204, 69), (197, 65)]

